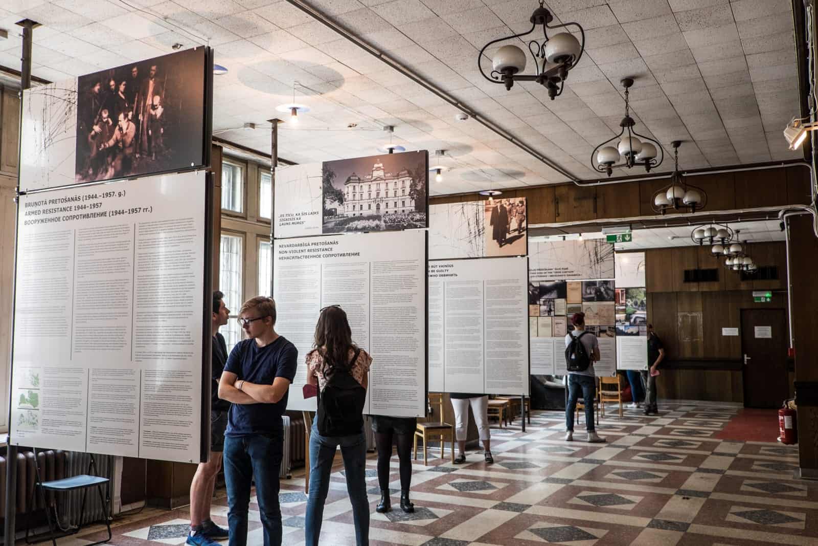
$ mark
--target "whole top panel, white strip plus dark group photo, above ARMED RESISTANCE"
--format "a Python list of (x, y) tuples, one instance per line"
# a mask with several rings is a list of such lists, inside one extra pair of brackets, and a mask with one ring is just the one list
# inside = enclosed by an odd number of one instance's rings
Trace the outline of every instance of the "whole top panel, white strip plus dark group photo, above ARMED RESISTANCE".
[(26, 89), (20, 192), (208, 165), (212, 64), (194, 47)]

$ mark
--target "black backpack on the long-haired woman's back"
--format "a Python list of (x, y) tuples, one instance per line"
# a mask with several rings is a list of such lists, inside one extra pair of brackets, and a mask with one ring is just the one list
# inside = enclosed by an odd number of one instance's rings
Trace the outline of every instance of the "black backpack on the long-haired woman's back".
[[(361, 350), (355, 351), (352, 363)], [(318, 392), (316, 415), (318, 434), (322, 436), (350, 436), (363, 430), (363, 407), (366, 389), (358, 383), (348, 368), (333, 366), (323, 392)]]

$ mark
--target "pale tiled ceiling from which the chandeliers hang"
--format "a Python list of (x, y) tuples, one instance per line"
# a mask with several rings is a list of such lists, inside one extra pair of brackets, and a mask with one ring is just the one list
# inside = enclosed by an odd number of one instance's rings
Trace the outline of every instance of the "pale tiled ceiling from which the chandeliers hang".
[[(586, 32), (586, 55), (550, 101), (537, 83), (507, 92), (483, 79), (479, 48), (530, 29), (525, 0), (309, 0), (310, 6), (434, 82), (577, 178), (598, 178), (591, 151), (618, 132), (619, 80), (635, 76), (637, 130), (682, 140), (685, 169), (797, 159), (781, 134), (798, 113), (789, 0), (551, 0)], [(299, 163), (369, 156), (389, 142), (446, 149), (452, 170), (433, 195), (566, 178), (291, 5), (272, 0), (5, 0), (0, 65), (19, 69), (20, 27), (34, 31), (34, 75), (56, 81), (209, 43), (228, 74), (214, 78), (213, 130), (269, 149), (275, 107), (312, 111), (281, 126), (280, 155)], [(488, 52), (491, 56), (492, 51)], [(530, 59), (529, 59), (530, 61)], [(490, 66), (490, 58), (484, 66)], [(279, 116), (281, 114), (278, 114)], [(258, 129), (236, 129), (254, 122)], [(357, 124), (355, 129), (346, 129)], [(670, 153), (668, 151), (667, 153)], [(672, 155), (659, 169), (672, 169)], [(614, 175), (643, 174), (644, 170)]]

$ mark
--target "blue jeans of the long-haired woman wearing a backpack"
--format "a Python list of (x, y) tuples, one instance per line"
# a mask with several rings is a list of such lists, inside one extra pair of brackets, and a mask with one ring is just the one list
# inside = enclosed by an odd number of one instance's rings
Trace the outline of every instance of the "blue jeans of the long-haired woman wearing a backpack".
[[(306, 546), (317, 546), (321, 535), (321, 519), (324, 516), (326, 494), (330, 490), (330, 472), (335, 450), (341, 446), (347, 491), (353, 505), (355, 521), (355, 544), (369, 544), (369, 498), (366, 496), (366, 436), (322, 436), (315, 422), (309, 438), (309, 498), (304, 522)], [(231, 545), (232, 546), (232, 545)]]

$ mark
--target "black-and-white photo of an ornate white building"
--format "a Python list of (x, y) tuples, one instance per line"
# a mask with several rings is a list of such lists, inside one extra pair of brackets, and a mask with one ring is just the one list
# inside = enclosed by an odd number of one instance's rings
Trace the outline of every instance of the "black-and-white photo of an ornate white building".
[(323, 232), (427, 227), (429, 152), (325, 161)]

